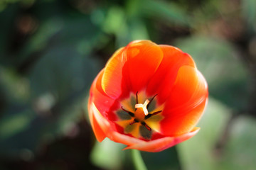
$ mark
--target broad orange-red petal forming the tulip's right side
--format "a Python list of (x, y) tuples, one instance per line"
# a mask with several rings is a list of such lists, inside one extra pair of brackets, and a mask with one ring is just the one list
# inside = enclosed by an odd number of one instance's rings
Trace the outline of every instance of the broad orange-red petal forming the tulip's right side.
[(208, 86), (197, 69), (183, 66), (166, 101), (161, 120), (163, 135), (181, 135), (198, 123), (208, 101)]

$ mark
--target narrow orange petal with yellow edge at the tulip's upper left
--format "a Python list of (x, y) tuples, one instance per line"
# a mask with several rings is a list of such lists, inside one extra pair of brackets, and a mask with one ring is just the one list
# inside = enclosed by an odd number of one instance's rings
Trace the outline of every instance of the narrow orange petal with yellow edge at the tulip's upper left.
[(123, 55), (124, 47), (120, 48), (110, 58), (105, 66), (105, 72), (102, 76), (102, 89), (111, 98), (118, 98), (122, 91), (127, 91), (123, 83), (124, 63), (127, 58)]

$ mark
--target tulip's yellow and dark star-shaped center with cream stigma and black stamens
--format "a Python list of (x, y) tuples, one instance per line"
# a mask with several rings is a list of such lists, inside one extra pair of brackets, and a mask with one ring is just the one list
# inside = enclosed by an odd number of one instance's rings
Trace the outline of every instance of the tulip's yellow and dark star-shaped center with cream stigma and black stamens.
[(117, 124), (124, 128), (124, 133), (149, 140), (152, 131), (158, 131), (159, 121), (163, 118), (159, 113), (163, 107), (156, 108), (156, 101), (154, 101), (156, 96), (157, 94), (150, 100), (140, 96), (141, 100), (139, 100), (137, 92), (135, 98), (131, 96), (129, 99), (121, 101), (122, 111), (117, 111), (120, 119)]

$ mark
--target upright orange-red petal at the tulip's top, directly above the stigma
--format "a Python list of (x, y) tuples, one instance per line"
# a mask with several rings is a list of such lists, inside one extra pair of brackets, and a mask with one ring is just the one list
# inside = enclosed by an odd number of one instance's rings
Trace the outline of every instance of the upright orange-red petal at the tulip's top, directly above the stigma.
[[(134, 93), (146, 88), (163, 59), (161, 48), (149, 40), (137, 40), (125, 48), (127, 63), (124, 72), (129, 74), (130, 88)], [(128, 77), (127, 77), (128, 78)]]

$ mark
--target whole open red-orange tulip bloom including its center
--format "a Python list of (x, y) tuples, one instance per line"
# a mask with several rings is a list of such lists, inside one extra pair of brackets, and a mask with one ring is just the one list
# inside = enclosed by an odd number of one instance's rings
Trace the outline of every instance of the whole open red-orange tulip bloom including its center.
[(90, 89), (90, 123), (99, 142), (160, 152), (196, 135), (208, 86), (190, 55), (149, 40), (112, 55)]

